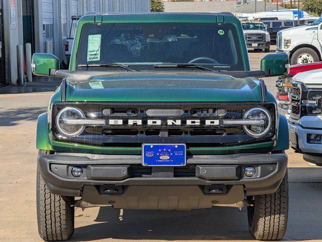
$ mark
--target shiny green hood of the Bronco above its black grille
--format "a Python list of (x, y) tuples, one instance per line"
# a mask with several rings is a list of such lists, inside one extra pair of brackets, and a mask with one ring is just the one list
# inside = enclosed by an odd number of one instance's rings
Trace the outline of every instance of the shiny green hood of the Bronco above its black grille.
[(66, 79), (66, 101), (261, 101), (259, 80), (195, 72), (128, 72)]

